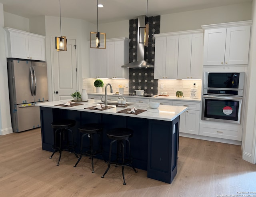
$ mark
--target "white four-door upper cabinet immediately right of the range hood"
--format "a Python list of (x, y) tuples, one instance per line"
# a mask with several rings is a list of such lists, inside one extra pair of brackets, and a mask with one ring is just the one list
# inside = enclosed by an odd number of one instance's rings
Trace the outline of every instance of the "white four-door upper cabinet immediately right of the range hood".
[(201, 79), (202, 30), (156, 34), (155, 79)]

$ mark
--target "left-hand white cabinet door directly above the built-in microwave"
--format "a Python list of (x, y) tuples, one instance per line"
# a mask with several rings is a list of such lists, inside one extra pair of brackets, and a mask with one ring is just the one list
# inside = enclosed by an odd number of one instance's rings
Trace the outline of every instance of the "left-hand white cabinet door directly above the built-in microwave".
[(204, 65), (224, 65), (226, 28), (204, 31)]

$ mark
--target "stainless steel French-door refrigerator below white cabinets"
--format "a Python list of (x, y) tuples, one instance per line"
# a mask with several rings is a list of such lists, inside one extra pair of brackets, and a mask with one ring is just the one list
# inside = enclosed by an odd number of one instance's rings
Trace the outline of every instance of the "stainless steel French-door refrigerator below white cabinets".
[(14, 132), (40, 127), (37, 102), (48, 101), (46, 63), (7, 59), (12, 129)]

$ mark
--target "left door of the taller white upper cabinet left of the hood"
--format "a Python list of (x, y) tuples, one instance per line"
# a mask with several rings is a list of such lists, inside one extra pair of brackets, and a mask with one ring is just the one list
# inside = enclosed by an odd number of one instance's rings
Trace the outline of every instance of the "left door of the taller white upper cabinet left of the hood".
[(115, 78), (115, 42), (106, 42), (107, 78)]

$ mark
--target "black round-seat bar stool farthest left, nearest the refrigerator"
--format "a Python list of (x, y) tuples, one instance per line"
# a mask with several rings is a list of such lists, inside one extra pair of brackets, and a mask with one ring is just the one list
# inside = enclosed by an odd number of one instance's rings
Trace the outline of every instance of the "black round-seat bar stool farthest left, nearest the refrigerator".
[[(57, 165), (60, 165), (60, 157), (62, 151), (65, 150), (71, 150), (73, 149), (73, 153), (76, 155), (76, 157), (79, 159), (78, 155), (76, 154), (74, 150), (74, 137), (73, 137), (73, 131), (70, 129), (70, 127), (73, 127), (76, 124), (75, 120), (71, 119), (62, 119), (58, 121), (54, 121), (51, 123), (52, 128), (56, 129), (54, 131), (54, 144), (52, 145), (52, 149), (54, 149), (52, 155), (50, 156), (50, 159), (52, 159), (52, 156), (56, 152), (60, 152), (59, 160)], [(71, 137), (71, 140), (69, 139)]]

